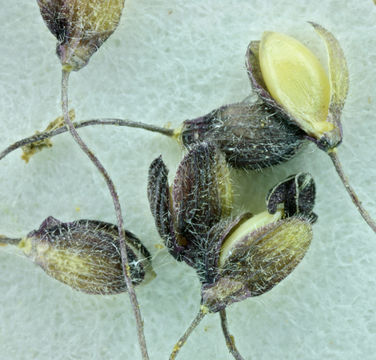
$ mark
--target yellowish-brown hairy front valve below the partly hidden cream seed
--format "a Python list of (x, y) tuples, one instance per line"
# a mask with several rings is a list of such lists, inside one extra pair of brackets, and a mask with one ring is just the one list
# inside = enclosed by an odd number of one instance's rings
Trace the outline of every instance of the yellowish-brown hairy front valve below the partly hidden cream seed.
[(311, 239), (311, 224), (297, 217), (230, 236), (223, 244), (230, 241), (231, 248), (221, 259), (218, 280), (202, 287), (202, 304), (217, 312), (271, 290), (303, 259)]

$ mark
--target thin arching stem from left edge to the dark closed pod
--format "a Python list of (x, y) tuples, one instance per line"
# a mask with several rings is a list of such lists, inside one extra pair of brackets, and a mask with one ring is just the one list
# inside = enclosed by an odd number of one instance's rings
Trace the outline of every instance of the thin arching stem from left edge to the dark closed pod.
[[(127, 126), (127, 127), (132, 127), (132, 128), (138, 128), (138, 129), (144, 129), (152, 132), (157, 132), (162, 135), (166, 135), (169, 137), (173, 137), (174, 135), (174, 129), (167, 129), (164, 127), (159, 127), (159, 126), (154, 126), (150, 124), (144, 124), (142, 122), (137, 122), (137, 121), (131, 121), (131, 120), (123, 120), (123, 119), (93, 119), (93, 120), (86, 120), (82, 121), (79, 123), (74, 123), (73, 126), (76, 129), (86, 127), (86, 126), (92, 126), (92, 125), (117, 125), (117, 126)], [(53, 136), (62, 134), (69, 131), (68, 128), (66, 127), (60, 127), (55, 130), (51, 131), (45, 131), (40, 134), (35, 134), (32, 136), (29, 136), (27, 138), (24, 138), (22, 140), (16, 141), (14, 144), (8, 146), (3, 152), (0, 153), (0, 160), (3, 159), (6, 155), (11, 153), (12, 151), (34, 143), (36, 141), (42, 141), (45, 139), (49, 139)]]

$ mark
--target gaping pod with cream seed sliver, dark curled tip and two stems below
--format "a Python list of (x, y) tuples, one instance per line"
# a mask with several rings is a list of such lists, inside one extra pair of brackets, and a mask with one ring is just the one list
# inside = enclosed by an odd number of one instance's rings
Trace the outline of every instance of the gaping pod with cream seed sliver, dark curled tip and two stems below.
[[(200, 276), (201, 308), (170, 359), (175, 359), (207, 313), (220, 312), (225, 329), (228, 305), (264, 294), (296, 268), (312, 240), (311, 224), (317, 219), (312, 213), (314, 198), (312, 177), (306, 173), (293, 175), (269, 192), (266, 205), (270, 212), (223, 219), (210, 229), (209, 249), (202, 260), (211, 267), (206, 276)], [(243, 359), (229, 336), (227, 343), (234, 357)]]

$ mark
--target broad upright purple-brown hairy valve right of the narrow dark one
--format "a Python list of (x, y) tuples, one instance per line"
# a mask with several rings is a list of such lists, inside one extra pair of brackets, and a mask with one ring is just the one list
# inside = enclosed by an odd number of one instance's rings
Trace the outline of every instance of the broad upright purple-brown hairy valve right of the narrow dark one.
[(202, 143), (180, 162), (172, 187), (175, 230), (181, 237), (206, 236), (232, 206), (230, 174), (223, 155)]

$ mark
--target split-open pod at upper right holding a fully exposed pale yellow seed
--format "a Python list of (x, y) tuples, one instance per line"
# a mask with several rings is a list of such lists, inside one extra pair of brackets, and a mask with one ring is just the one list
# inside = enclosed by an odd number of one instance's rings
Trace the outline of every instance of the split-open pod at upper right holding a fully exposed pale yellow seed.
[(328, 51), (329, 79), (316, 56), (297, 40), (264, 33), (252, 41), (246, 66), (259, 97), (299, 126), (317, 145), (330, 151), (342, 141), (341, 112), (349, 86), (343, 51), (337, 39), (311, 23)]

